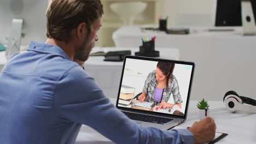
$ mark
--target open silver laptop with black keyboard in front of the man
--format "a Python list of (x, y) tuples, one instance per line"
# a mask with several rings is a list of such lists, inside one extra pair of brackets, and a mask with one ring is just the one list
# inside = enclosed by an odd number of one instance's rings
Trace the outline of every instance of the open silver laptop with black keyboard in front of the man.
[[(156, 65), (162, 62), (171, 63), (174, 67), (170, 78), (172, 84), (168, 86), (170, 91), (166, 91), (166, 87), (163, 88), (161, 96), (165, 97), (165, 100), (161, 98), (162, 101), (174, 106), (165, 109), (160, 107), (161, 100), (154, 94), (154, 86), (158, 83), (153, 85), (152, 82)], [(171, 129), (187, 119), (194, 69), (193, 62), (125, 56), (116, 107), (143, 127)], [(148, 95), (141, 102), (138, 97), (143, 91), (147, 91)]]

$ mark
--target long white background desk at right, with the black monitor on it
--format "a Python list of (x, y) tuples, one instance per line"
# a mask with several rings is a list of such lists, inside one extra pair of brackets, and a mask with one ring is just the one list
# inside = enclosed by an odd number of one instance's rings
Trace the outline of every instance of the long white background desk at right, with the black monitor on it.
[(256, 99), (256, 36), (243, 36), (241, 28), (178, 35), (121, 27), (113, 33), (113, 39), (118, 47), (137, 47), (142, 37), (154, 35), (155, 47), (176, 47), (180, 60), (195, 62), (191, 100), (222, 100), (229, 90)]

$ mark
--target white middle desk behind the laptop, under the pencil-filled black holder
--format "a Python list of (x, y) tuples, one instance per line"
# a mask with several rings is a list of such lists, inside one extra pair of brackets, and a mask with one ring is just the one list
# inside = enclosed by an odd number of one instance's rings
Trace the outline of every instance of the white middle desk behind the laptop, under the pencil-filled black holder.
[[(92, 52), (96, 51), (118, 51), (118, 50), (131, 50), (132, 55), (139, 48), (125, 48), (120, 49), (117, 47), (95, 47)], [(160, 51), (161, 58), (167, 59), (179, 59), (179, 49), (173, 48), (160, 48), (155, 49)], [(24, 52), (24, 51), (22, 51)], [(118, 88), (120, 85), (121, 71), (123, 68), (123, 62), (104, 62), (104, 56), (92, 56), (89, 57), (88, 61), (85, 62), (85, 70), (96, 80), (98, 85), (103, 89), (104, 94), (107, 97), (117, 97)], [(0, 71), (6, 63), (5, 52), (0, 52)]]

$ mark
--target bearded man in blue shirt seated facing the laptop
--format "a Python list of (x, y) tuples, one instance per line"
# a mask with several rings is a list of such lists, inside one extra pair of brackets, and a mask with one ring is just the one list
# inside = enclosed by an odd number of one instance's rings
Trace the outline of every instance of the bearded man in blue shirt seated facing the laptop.
[(189, 129), (159, 130), (139, 126), (110, 103), (80, 67), (98, 40), (102, 14), (100, 0), (51, 2), (46, 42), (31, 41), (0, 74), (0, 142), (74, 143), (82, 124), (116, 143), (212, 140), (216, 124), (210, 117)]

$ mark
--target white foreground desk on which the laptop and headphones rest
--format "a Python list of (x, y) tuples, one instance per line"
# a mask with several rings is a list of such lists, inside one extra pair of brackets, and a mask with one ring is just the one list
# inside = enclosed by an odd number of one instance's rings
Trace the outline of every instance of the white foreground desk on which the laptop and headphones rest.
[[(110, 98), (113, 104), (115, 104), (115, 98)], [(197, 101), (190, 101), (188, 119), (185, 123), (179, 125), (187, 128), (197, 119)], [(216, 131), (222, 133), (228, 133), (229, 135), (224, 139), (218, 141), (218, 143), (255, 143), (256, 141), (256, 114), (246, 113), (231, 113), (227, 109), (222, 101), (208, 101), (210, 104), (210, 116), (214, 118), (216, 122)], [(97, 133), (97, 131), (83, 125), (77, 140), (75, 143), (113, 143), (106, 137)]]

